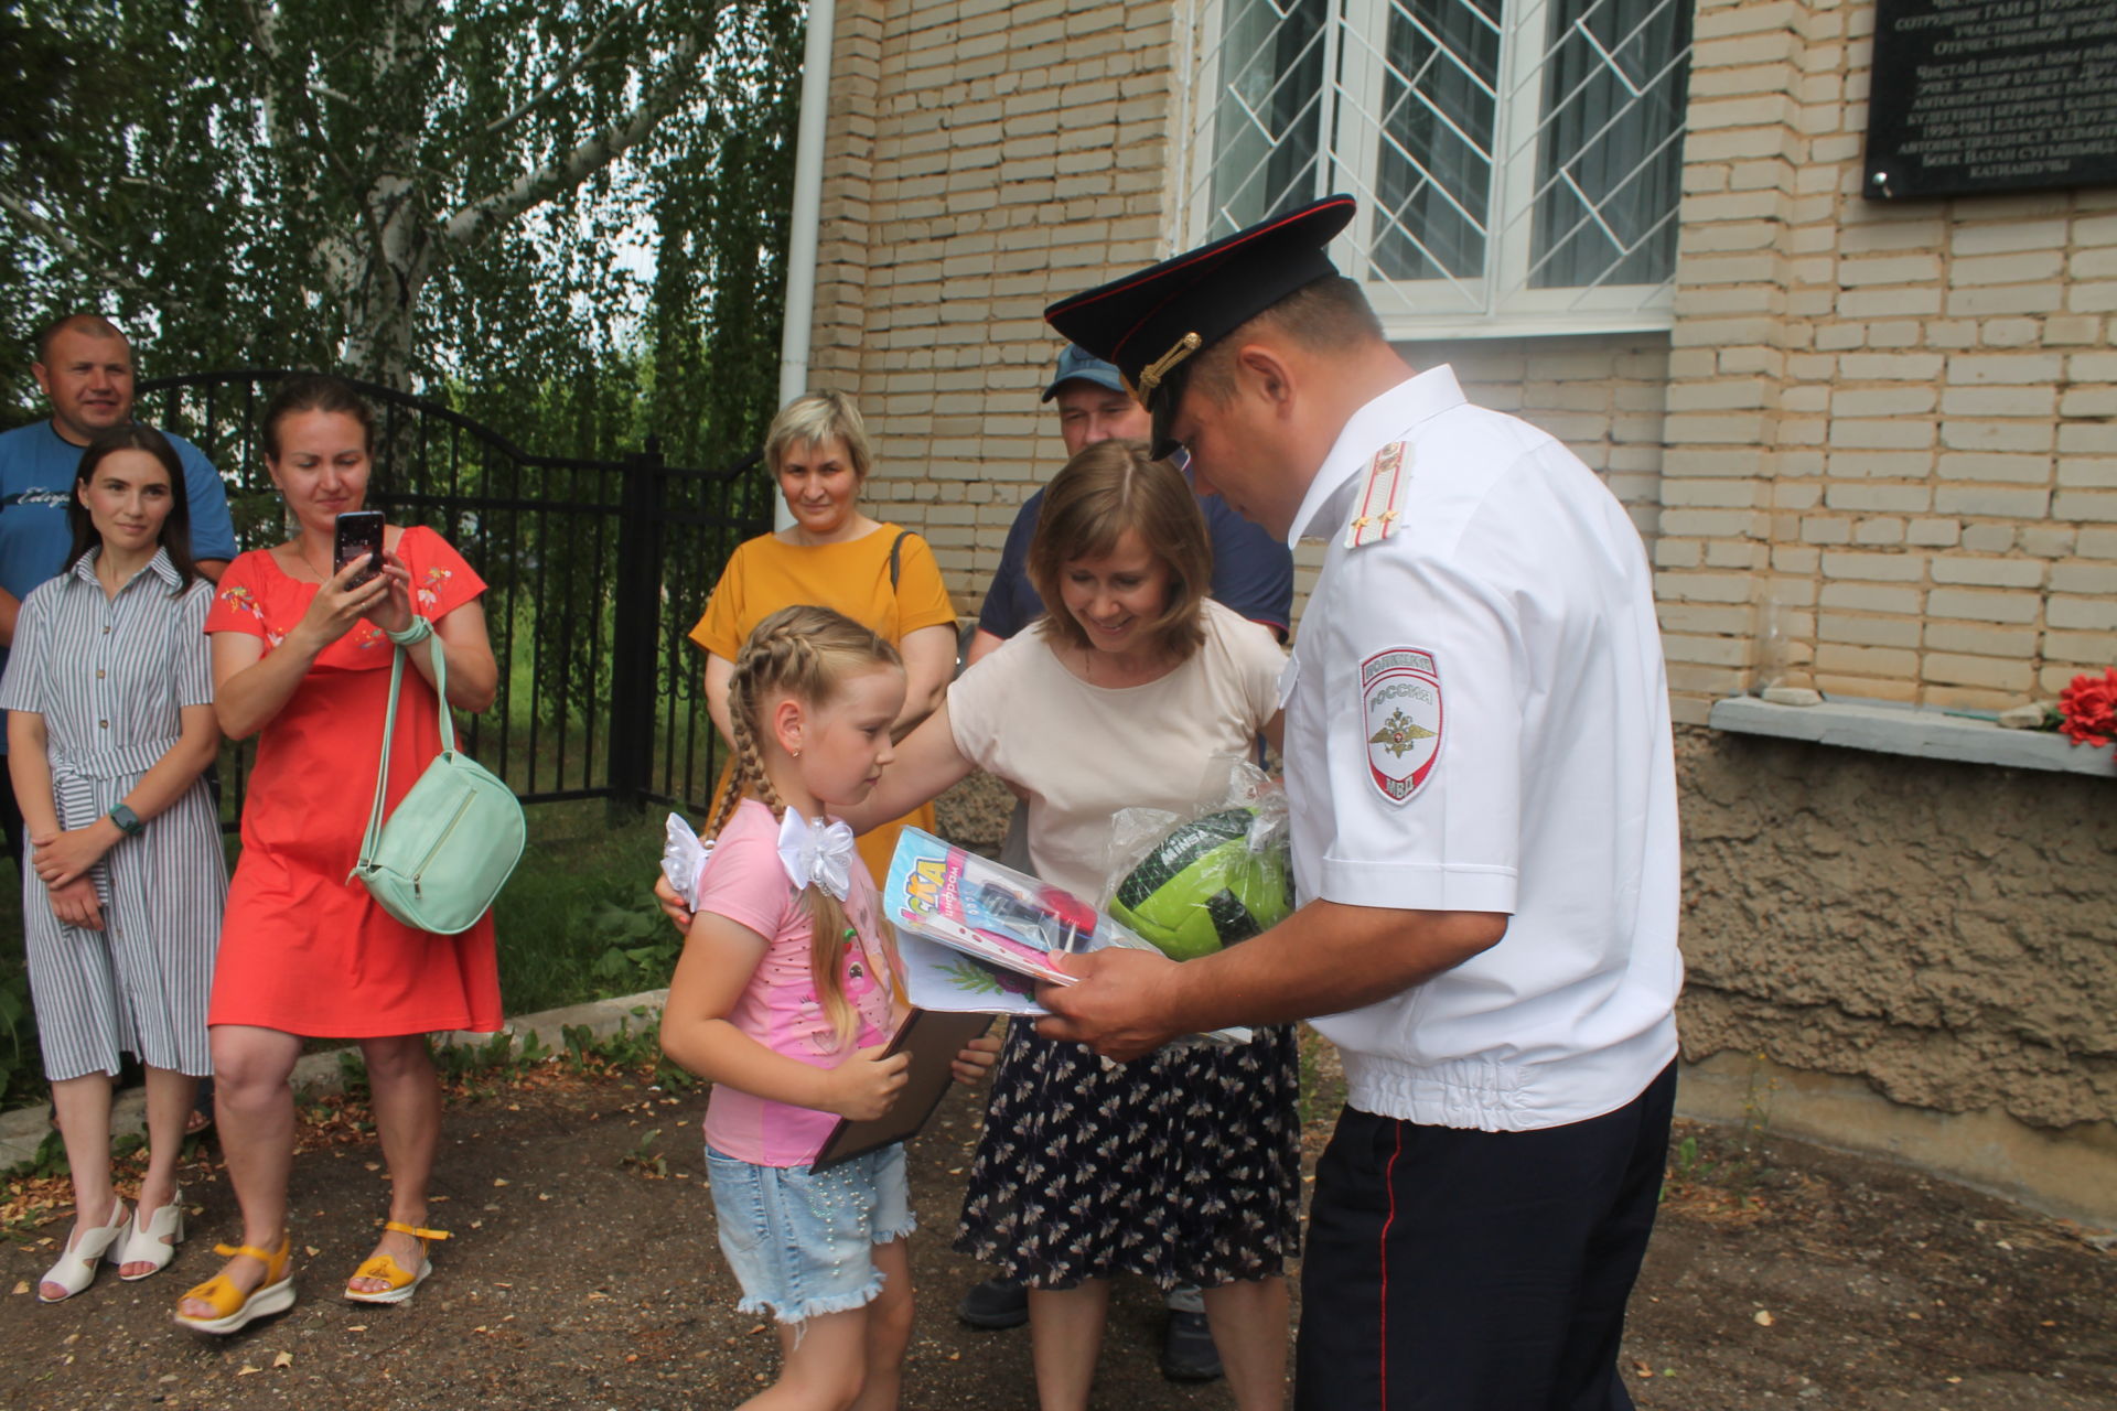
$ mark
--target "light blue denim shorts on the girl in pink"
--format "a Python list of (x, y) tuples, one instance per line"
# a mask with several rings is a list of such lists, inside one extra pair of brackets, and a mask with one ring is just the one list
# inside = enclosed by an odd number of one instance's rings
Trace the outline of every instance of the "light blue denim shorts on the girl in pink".
[(870, 1246), (912, 1233), (904, 1147), (891, 1144), (815, 1174), (752, 1166), (705, 1149), (720, 1252), (743, 1286), (745, 1314), (779, 1322), (866, 1307), (883, 1290)]

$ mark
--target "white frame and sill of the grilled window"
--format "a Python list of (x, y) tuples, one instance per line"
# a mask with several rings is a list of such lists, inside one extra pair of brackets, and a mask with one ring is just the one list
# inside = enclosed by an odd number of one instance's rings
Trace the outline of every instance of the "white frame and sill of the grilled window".
[[(1679, 0), (1687, 2), (1687, 0)], [(1325, 197), (1338, 190), (1359, 199), (1359, 214), (1332, 243), (1338, 269), (1368, 288), (1368, 298), (1391, 338), (1495, 338), (1533, 334), (1666, 332), (1675, 324), (1675, 269), (1660, 283), (1590, 283), (1577, 288), (1531, 288), (1535, 209), (1539, 193), (1537, 144), (1541, 140), (1543, 70), (1552, 55), (1550, 0), (1505, 0), (1499, 70), (1495, 76), (1492, 190), (1486, 205), (1484, 269), (1469, 277), (1389, 279), (1376, 273), (1368, 248), (1378, 235), (1376, 188), (1380, 173), (1387, 93), (1387, 42), (1391, 0), (1327, 0), (1323, 32), (1323, 83), (1315, 97), (1319, 157), (1310, 188)], [(1179, 190), (1183, 193), (1183, 243), (1213, 233), (1213, 150), (1219, 108), (1219, 36), (1226, 0), (1200, 0), (1194, 44), (1186, 72), (1188, 140), (1181, 144)], [(1685, 55), (1670, 55), (1670, 63)], [(1281, 74), (1281, 80), (1285, 76)], [(1670, 138), (1681, 142), (1681, 127)], [(1554, 173), (1552, 180), (1558, 180)], [(1296, 197), (1287, 193), (1287, 203)], [(1655, 228), (1677, 220), (1677, 205)], [(1414, 233), (1406, 233), (1416, 239)], [(1670, 267), (1675, 260), (1670, 260)]]

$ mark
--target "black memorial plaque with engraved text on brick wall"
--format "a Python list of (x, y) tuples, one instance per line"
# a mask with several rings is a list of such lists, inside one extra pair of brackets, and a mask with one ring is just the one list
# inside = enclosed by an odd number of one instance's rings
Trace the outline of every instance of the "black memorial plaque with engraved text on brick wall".
[(1876, 0), (1876, 201), (2117, 184), (2117, 2)]

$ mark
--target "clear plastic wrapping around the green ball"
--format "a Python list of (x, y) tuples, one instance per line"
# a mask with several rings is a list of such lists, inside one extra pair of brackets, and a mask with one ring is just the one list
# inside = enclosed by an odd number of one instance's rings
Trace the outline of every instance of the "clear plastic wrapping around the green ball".
[(1293, 912), (1287, 793), (1247, 759), (1215, 762), (1190, 814), (1124, 808), (1111, 823), (1101, 905), (1177, 960), (1247, 941)]

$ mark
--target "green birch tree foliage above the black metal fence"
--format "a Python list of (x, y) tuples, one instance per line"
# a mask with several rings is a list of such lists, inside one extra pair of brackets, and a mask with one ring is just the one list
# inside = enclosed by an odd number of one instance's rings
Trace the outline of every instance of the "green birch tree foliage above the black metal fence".
[[(55, 311), (146, 372), (334, 366), (523, 444), (756, 444), (798, 0), (19, 0), (0, 379)], [(652, 273), (650, 273), (652, 271)]]

